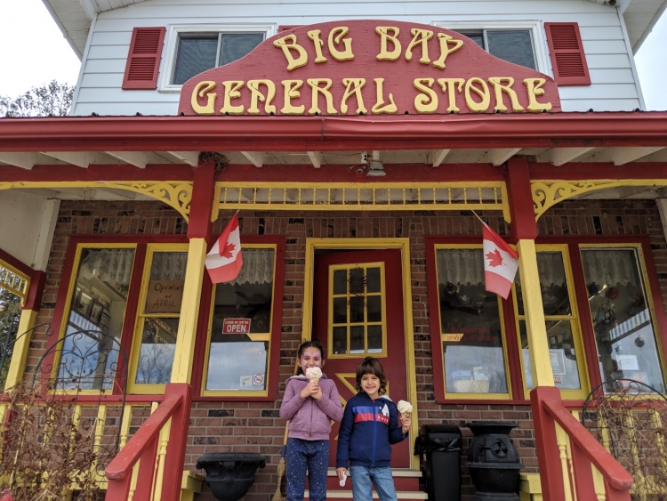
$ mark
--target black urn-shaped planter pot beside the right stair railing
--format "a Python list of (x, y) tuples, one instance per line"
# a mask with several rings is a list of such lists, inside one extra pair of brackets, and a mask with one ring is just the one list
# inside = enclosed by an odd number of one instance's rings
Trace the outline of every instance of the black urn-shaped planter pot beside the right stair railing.
[(510, 439), (517, 424), (474, 421), (466, 426), (474, 435), (468, 449), (470, 480), (477, 488), (473, 501), (519, 501), (519, 471), (524, 465)]

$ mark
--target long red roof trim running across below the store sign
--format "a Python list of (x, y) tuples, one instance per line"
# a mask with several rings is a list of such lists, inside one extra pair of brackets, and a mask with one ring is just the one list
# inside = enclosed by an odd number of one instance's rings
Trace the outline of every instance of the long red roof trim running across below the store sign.
[(0, 119), (0, 151), (667, 146), (667, 112)]

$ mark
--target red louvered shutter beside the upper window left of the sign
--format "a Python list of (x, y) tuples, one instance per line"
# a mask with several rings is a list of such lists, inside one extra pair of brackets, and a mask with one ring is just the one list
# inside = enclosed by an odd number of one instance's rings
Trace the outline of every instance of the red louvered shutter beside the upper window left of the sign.
[(124, 89), (157, 89), (165, 30), (164, 27), (133, 29), (123, 77)]

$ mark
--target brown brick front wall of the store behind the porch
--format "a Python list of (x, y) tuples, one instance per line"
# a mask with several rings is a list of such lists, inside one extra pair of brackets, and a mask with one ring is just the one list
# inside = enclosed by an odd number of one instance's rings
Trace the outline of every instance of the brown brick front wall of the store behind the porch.
[[(220, 233), (231, 213), (221, 213), (213, 232)], [(306, 238), (410, 238), (411, 284), (414, 309), (414, 348), (420, 424), (462, 424), (471, 420), (511, 420), (519, 424), (512, 437), (521, 461), (536, 470), (534, 432), (526, 405), (440, 405), (433, 393), (430, 327), (426, 286), (424, 236), (479, 235), (481, 224), (470, 212), (252, 212), (240, 215), (245, 235), (285, 235), (285, 297), (280, 346), (280, 387), (275, 402), (212, 402), (193, 404), (190, 418), (187, 468), (194, 469), (205, 452), (260, 452), (269, 464), (259, 470), (246, 499), (269, 501), (276, 489), (276, 465), (282, 446), (284, 422), (277, 415), (284, 381), (291, 376), (293, 357), (301, 342), (301, 321)], [(498, 213), (482, 214), (500, 234), (507, 226)], [(38, 321), (49, 321), (56, 302), (68, 238), (72, 234), (130, 233), (183, 234), (180, 214), (157, 202), (63, 202), (48, 266), (47, 290)], [(667, 297), (667, 246), (660, 217), (651, 201), (569, 201), (555, 206), (540, 219), (541, 235), (648, 234), (657, 266), (663, 301)], [(63, 301), (64, 298), (59, 298)], [(44, 345), (36, 335), (30, 360), (35, 362)], [(466, 437), (469, 436), (467, 430)], [(466, 439), (467, 443), (467, 439)], [(465, 450), (464, 450), (465, 454)], [(463, 469), (464, 475), (467, 473)], [(467, 476), (464, 492), (470, 494)], [(466, 496), (466, 498), (469, 498)], [(210, 501), (210, 494), (197, 497)]]

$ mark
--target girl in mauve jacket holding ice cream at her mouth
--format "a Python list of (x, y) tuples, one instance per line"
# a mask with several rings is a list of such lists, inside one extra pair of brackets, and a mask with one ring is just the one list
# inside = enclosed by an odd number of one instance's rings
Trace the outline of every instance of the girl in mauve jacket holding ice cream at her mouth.
[(302, 343), (297, 352), (299, 370), (287, 380), (280, 417), (289, 420), (287, 440), (287, 501), (303, 501), (308, 471), (309, 499), (325, 501), (331, 420), (342, 419), (341, 399), (331, 379), (309, 380), (308, 368), (325, 367), (319, 341)]

